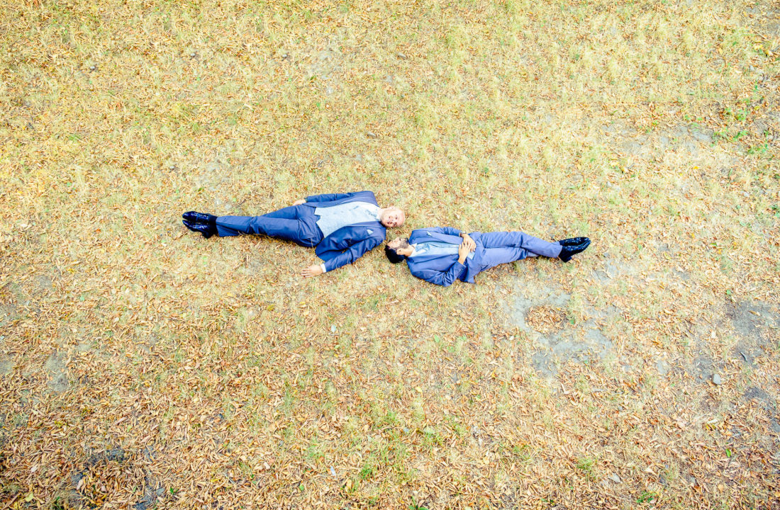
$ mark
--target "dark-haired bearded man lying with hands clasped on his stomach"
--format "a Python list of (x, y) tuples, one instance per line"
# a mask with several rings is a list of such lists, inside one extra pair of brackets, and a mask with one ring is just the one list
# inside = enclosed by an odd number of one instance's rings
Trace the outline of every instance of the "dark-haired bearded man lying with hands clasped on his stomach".
[(395, 237), (385, 245), (385, 255), (393, 264), (406, 260), (417, 278), (448, 287), (455, 280), (474, 283), (477, 273), (526, 257), (542, 255), (569, 262), (589, 244), (587, 237), (548, 242), (523, 232), (466, 234), (434, 227), (412, 230), (408, 239)]

